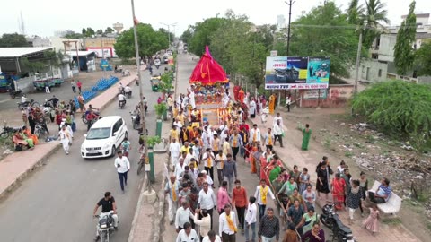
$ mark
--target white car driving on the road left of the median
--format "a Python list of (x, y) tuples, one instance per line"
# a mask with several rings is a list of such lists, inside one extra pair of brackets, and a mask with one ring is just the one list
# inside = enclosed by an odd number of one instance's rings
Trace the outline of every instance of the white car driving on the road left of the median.
[(84, 136), (81, 144), (83, 158), (114, 156), (124, 138), (128, 137), (128, 127), (120, 116), (103, 117)]

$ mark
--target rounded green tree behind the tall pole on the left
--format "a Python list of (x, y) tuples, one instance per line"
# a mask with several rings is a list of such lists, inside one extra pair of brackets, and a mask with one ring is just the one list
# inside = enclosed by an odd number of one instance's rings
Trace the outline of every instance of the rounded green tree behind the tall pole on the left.
[[(139, 23), (137, 25), (137, 41), (139, 44), (139, 56), (152, 56), (161, 49), (168, 48), (168, 39), (160, 32), (153, 29), (150, 24)], [(133, 28), (124, 30), (119, 34), (115, 51), (120, 58), (135, 57), (135, 39)]]

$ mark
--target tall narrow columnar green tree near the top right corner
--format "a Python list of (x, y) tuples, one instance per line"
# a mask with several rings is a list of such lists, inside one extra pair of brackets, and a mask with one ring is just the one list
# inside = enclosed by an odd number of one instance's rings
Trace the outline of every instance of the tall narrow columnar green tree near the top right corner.
[[(415, 61), (415, 50), (412, 47), (416, 41), (416, 2), (411, 2), (409, 14), (406, 20), (401, 22), (400, 30), (397, 33), (397, 42), (394, 47), (394, 63), (397, 73), (405, 75), (413, 67)], [(431, 55), (431, 53), (428, 53)]]

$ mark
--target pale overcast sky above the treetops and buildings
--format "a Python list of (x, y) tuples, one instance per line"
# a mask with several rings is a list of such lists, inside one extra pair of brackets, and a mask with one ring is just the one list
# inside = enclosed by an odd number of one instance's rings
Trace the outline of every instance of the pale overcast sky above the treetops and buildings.
[[(350, 0), (335, 0), (342, 10), (347, 9)], [(365, 0), (360, 0), (362, 3)], [(163, 23), (177, 23), (176, 36), (190, 24), (224, 15), (227, 9), (246, 14), (256, 24), (277, 23), (277, 15), (288, 15), (285, 0), (136, 0), (136, 18), (139, 22), (151, 23), (154, 28), (164, 27)], [(302, 11), (308, 12), (323, 0), (295, 0), (292, 19)], [(409, 11), (410, 0), (382, 0), (387, 4), (391, 25), (399, 25), (401, 15)], [(417, 0), (417, 13), (431, 13), (431, 0)], [(163, 4), (162, 4), (163, 3)], [(132, 25), (131, 5), (128, 0), (12, 0), (2, 1), (0, 14), (0, 33), (19, 32), (19, 18), (22, 18), (27, 35), (53, 36), (55, 30), (74, 30), (81, 32), (83, 27), (94, 30), (106, 29), (114, 22), (122, 22), (126, 28)], [(166, 28), (167, 29), (167, 28)], [(173, 32), (173, 29), (171, 29)]]

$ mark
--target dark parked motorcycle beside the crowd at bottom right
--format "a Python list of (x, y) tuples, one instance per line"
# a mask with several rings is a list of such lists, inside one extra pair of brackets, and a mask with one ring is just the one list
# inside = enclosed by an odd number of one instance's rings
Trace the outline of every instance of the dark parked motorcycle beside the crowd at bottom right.
[(350, 228), (339, 219), (339, 214), (335, 212), (335, 204), (326, 204), (322, 208), (321, 223), (332, 230), (332, 241), (355, 242)]

